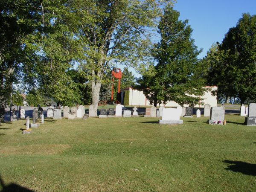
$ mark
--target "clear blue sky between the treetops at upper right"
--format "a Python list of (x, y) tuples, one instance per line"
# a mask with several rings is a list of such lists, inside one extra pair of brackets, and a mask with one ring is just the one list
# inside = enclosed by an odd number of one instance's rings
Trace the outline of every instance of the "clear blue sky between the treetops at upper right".
[(180, 20), (189, 20), (195, 45), (203, 48), (199, 58), (203, 58), (243, 13), (256, 15), (256, 0), (177, 0), (174, 9), (180, 12)]

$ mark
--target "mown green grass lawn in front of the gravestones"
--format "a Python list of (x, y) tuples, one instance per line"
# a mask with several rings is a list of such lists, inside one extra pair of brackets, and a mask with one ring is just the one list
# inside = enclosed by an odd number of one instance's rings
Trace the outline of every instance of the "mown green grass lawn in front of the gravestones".
[(3, 123), (0, 176), (33, 191), (256, 191), (256, 126), (225, 118), (45, 119), (25, 135), (25, 120)]

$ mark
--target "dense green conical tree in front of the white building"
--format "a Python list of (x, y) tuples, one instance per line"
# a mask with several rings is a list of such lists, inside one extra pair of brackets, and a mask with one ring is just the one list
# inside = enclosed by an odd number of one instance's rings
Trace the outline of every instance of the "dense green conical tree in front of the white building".
[(172, 7), (166, 7), (158, 26), (161, 41), (153, 50), (157, 65), (138, 80), (140, 90), (154, 106), (167, 101), (181, 106), (195, 105), (206, 90), (204, 81), (194, 76), (199, 69), (200, 51), (191, 39), (192, 29), (187, 25), (188, 20), (178, 20), (179, 16)]

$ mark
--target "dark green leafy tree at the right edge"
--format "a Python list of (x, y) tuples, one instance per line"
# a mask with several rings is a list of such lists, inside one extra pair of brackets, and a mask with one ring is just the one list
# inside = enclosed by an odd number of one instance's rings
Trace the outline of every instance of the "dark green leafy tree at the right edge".
[(238, 97), (241, 104), (256, 99), (256, 15), (243, 14), (229, 29), (210, 66), (209, 78), (218, 94)]

